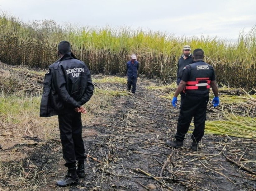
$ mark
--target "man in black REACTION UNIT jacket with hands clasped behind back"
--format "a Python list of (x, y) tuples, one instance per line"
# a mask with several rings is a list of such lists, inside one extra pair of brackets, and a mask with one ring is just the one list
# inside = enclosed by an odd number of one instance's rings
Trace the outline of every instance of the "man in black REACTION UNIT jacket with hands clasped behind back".
[(83, 178), (85, 174), (81, 113), (86, 113), (82, 105), (90, 100), (94, 86), (88, 67), (74, 57), (69, 42), (59, 43), (58, 55), (60, 59), (51, 64), (45, 74), (40, 117), (58, 115), (63, 158), (68, 173), (56, 184), (68, 186), (78, 183), (78, 177)]

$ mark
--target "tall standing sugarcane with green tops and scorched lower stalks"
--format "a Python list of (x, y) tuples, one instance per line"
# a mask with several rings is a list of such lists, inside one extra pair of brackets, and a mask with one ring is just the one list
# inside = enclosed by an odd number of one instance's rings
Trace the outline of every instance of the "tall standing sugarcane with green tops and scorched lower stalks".
[(205, 51), (205, 61), (216, 68), (217, 81), (233, 87), (256, 86), (256, 26), (241, 32), (236, 43), (200, 37), (175, 37), (167, 33), (131, 30), (129, 27), (60, 28), (54, 21), (22, 23), (13, 16), (0, 16), (0, 59), (8, 64), (46, 68), (57, 59), (57, 44), (68, 40), (74, 54), (92, 73), (126, 73), (126, 62), (136, 54), (139, 72), (166, 82), (176, 78), (177, 61), (184, 44)]

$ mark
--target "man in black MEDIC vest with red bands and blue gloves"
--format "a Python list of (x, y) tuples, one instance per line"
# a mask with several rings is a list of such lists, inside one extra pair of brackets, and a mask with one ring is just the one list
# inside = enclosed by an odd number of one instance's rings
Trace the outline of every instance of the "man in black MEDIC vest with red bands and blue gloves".
[(219, 105), (218, 87), (216, 85), (215, 72), (211, 65), (203, 61), (204, 51), (195, 49), (193, 51), (193, 63), (183, 68), (181, 82), (173, 96), (172, 105), (176, 107), (177, 96), (183, 89), (186, 95), (180, 110), (177, 133), (175, 141), (167, 141), (166, 144), (180, 148), (183, 145), (185, 134), (188, 131), (192, 117), (194, 117), (194, 131), (192, 133), (191, 149), (199, 149), (198, 142), (204, 135), (206, 106), (209, 101), (210, 86), (215, 95), (212, 103), (216, 107)]

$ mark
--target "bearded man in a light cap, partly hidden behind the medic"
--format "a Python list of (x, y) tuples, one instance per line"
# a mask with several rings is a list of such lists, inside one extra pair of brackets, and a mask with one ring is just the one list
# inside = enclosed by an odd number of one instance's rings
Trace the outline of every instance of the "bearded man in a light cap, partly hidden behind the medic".
[[(191, 47), (189, 45), (185, 45), (183, 47), (183, 54), (181, 55), (181, 57), (178, 61), (177, 85), (179, 85), (179, 83), (181, 81), (183, 68), (186, 65), (191, 64), (193, 62), (193, 58), (192, 58), (192, 54), (190, 54), (190, 50), (191, 50)], [(175, 111), (176, 113), (180, 112), (184, 97), (185, 97), (185, 93), (183, 91), (180, 92), (180, 108), (177, 111)]]

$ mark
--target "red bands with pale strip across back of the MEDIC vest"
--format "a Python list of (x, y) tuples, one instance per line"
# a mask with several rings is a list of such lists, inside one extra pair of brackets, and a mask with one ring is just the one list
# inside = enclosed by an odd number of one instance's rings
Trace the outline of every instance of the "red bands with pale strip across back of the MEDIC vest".
[(186, 90), (209, 89), (211, 80), (209, 77), (198, 77), (196, 81), (188, 81)]

